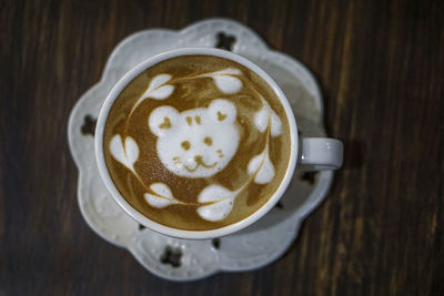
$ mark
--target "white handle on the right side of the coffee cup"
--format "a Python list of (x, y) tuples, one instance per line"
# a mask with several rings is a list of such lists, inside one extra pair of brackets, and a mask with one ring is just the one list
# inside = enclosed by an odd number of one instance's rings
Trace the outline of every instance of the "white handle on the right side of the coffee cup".
[(330, 137), (302, 137), (297, 170), (327, 171), (342, 165), (342, 142)]

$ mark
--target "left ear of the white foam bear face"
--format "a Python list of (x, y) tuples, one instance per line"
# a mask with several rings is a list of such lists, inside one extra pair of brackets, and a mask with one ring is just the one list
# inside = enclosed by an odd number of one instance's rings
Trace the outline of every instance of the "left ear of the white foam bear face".
[(157, 136), (165, 135), (179, 120), (179, 112), (172, 106), (159, 106), (154, 109), (148, 120), (151, 132)]

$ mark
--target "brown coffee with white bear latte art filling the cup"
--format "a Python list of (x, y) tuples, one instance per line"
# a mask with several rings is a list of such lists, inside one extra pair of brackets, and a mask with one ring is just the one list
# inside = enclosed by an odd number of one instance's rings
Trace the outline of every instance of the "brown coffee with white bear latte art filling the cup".
[(137, 211), (206, 231), (268, 202), (286, 173), (290, 137), (284, 108), (261, 76), (223, 58), (183, 55), (147, 69), (119, 94), (103, 154)]

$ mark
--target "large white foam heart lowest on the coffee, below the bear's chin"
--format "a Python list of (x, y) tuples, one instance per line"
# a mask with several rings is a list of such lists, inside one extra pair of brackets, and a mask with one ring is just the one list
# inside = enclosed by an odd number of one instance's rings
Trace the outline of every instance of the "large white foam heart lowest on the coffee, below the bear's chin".
[(235, 195), (236, 192), (229, 191), (220, 185), (210, 185), (199, 194), (198, 201), (200, 203), (212, 202), (212, 204), (200, 206), (196, 212), (206, 221), (221, 221), (233, 210)]

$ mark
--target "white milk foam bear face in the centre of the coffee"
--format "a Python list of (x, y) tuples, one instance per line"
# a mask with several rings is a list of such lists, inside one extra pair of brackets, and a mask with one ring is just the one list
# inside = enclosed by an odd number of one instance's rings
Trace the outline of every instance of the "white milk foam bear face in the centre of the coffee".
[(219, 99), (209, 108), (182, 113), (159, 106), (151, 112), (149, 125), (158, 136), (158, 156), (168, 170), (179, 176), (209, 177), (222, 171), (238, 150), (235, 118), (234, 104)]

